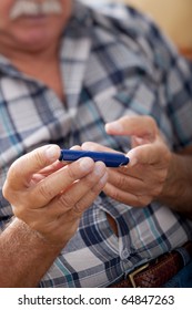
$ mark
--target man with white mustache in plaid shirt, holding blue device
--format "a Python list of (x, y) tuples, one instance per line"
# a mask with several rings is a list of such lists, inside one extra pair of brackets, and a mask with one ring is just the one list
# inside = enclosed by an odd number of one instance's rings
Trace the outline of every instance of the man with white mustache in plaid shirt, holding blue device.
[(192, 72), (124, 12), (0, 1), (0, 287), (191, 286)]

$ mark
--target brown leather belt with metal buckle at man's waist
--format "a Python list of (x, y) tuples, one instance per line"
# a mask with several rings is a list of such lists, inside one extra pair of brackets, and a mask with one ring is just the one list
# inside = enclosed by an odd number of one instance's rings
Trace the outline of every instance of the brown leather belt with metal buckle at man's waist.
[(161, 288), (186, 265), (184, 257), (192, 258), (192, 241), (140, 266), (110, 288)]

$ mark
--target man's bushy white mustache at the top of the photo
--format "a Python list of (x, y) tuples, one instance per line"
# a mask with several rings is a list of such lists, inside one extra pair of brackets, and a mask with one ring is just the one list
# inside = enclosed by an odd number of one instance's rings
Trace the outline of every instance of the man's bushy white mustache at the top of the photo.
[(47, 0), (39, 3), (29, 0), (18, 0), (10, 11), (10, 19), (16, 20), (22, 16), (61, 14), (61, 3), (57, 0)]

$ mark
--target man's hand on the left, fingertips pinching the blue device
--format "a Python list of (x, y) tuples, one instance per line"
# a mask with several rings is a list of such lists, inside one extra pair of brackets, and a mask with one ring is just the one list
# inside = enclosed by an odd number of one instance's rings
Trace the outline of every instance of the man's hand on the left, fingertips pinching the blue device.
[(81, 158), (63, 165), (59, 155), (59, 146), (47, 145), (21, 156), (3, 186), (16, 217), (53, 246), (64, 246), (73, 236), (108, 178), (101, 162)]

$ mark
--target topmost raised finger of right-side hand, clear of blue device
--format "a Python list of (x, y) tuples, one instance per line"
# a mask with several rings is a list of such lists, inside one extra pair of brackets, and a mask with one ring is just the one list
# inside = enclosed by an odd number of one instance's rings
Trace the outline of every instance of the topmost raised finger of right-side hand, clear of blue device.
[(123, 116), (118, 121), (105, 124), (105, 131), (112, 135), (130, 135), (148, 137), (150, 141), (155, 137), (158, 126), (151, 116)]

